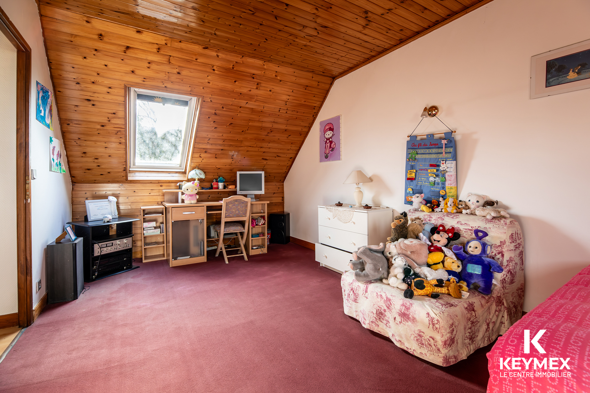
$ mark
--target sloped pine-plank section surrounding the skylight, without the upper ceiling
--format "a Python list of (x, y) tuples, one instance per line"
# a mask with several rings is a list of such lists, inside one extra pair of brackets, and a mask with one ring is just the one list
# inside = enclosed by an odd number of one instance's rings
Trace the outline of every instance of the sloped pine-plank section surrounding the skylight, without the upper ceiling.
[(283, 182), (332, 78), (41, 4), (71, 178), (126, 182), (124, 84), (204, 97), (192, 158), (205, 182)]

